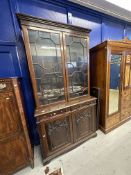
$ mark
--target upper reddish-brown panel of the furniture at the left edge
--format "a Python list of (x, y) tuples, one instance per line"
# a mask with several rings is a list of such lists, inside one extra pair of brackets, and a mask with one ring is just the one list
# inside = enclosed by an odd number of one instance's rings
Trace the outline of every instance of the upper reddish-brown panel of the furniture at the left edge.
[(0, 93), (0, 138), (17, 132), (20, 116), (13, 92)]

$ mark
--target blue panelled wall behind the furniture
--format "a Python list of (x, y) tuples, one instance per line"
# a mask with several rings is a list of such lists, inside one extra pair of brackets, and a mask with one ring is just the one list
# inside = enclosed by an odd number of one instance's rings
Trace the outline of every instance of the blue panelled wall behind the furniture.
[(90, 47), (106, 39), (131, 39), (131, 24), (64, 0), (0, 1), (0, 77), (21, 77), (22, 91), (32, 141), (38, 134), (34, 118), (34, 97), (16, 13), (25, 13), (92, 29)]

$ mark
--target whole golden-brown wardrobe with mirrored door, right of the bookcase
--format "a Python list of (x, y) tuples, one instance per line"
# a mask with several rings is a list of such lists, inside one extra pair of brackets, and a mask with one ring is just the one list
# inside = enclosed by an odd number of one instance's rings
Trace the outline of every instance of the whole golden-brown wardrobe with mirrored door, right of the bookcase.
[(91, 87), (100, 88), (99, 126), (105, 133), (131, 118), (131, 41), (90, 49)]

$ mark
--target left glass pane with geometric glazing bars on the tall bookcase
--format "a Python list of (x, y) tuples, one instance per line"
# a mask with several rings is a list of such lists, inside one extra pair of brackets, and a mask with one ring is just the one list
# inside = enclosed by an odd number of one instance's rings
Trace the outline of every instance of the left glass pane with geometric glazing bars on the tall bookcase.
[(29, 30), (32, 61), (41, 105), (64, 99), (60, 36)]

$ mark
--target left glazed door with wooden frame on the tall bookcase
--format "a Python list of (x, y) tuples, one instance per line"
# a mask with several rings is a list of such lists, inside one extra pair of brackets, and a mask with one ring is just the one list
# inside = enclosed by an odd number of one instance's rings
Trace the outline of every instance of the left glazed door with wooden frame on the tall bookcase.
[(30, 28), (24, 34), (36, 106), (65, 101), (61, 32)]

